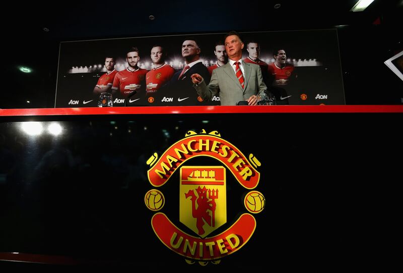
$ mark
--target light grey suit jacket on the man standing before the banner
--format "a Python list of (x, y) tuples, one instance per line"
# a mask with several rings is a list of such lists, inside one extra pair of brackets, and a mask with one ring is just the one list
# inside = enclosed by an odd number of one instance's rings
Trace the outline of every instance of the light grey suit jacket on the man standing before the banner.
[(219, 95), (221, 105), (236, 105), (240, 100), (247, 100), (251, 95), (267, 90), (260, 67), (245, 62), (242, 64), (244, 66), (244, 89), (229, 62), (213, 70), (209, 85), (206, 84), (208, 81), (203, 77), (204, 81), (193, 86), (204, 100), (210, 100), (215, 95)]

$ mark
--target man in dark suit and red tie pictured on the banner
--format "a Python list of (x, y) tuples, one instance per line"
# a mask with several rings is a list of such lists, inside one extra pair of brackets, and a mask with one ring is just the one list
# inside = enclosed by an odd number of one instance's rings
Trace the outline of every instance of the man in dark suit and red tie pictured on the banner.
[[(206, 105), (206, 102), (194, 91), (191, 75), (196, 73), (210, 81), (210, 73), (207, 67), (200, 60), (201, 49), (194, 38), (186, 38), (182, 43), (182, 57), (185, 59), (185, 66), (177, 71), (171, 80), (159, 92), (161, 100), (173, 98), (172, 102), (164, 105)], [(167, 90), (166, 90), (167, 89)]]

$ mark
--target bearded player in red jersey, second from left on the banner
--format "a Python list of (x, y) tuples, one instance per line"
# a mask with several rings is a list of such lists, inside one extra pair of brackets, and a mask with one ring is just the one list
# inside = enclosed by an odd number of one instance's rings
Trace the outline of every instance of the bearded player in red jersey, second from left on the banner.
[(139, 94), (140, 91), (146, 89), (146, 74), (148, 71), (147, 69), (139, 68), (139, 60), (139, 49), (137, 47), (130, 48), (126, 53), (128, 67), (115, 75), (112, 85), (113, 93), (120, 90), (120, 93), (127, 97), (135, 93)]

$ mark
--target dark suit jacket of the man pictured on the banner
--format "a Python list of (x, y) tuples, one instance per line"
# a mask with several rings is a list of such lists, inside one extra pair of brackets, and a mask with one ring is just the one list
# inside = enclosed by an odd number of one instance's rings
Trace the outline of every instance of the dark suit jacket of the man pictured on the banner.
[[(194, 91), (190, 76), (194, 73), (200, 74), (204, 79), (210, 81), (210, 73), (203, 63), (197, 63), (189, 68), (180, 78), (182, 69), (177, 71), (166, 85), (158, 90), (158, 100), (164, 97), (173, 98), (172, 102), (159, 105), (209, 105), (211, 101), (200, 101), (199, 95)], [(216, 103), (217, 104), (217, 103)]]

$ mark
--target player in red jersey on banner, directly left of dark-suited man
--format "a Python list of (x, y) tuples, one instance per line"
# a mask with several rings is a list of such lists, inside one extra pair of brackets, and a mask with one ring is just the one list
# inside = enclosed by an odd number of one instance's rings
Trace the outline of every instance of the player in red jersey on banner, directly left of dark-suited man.
[(161, 45), (154, 45), (151, 48), (150, 56), (154, 63), (154, 68), (146, 75), (146, 95), (148, 97), (153, 96), (175, 74), (175, 69), (164, 62), (166, 53)]

